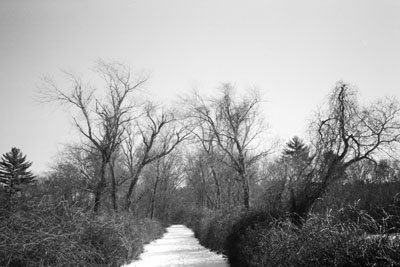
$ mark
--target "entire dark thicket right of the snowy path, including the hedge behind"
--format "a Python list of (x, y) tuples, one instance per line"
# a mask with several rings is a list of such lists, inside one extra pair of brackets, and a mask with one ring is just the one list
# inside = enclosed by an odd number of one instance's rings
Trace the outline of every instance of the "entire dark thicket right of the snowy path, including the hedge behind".
[(186, 224), (232, 267), (400, 266), (398, 188), (396, 181), (337, 183), (300, 221), (284, 209), (259, 205), (192, 208)]

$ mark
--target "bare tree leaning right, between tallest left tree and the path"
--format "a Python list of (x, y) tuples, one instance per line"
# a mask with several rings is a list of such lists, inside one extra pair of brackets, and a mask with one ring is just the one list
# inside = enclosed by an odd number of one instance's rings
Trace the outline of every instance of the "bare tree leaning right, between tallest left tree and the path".
[(170, 154), (190, 133), (187, 127), (180, 124), (174, 112), (158, 110), (151, 103), (145, 106), (144, 116), (141, 121), (136, 121), (135, 128), (136, 132), (132, 128), (128, 130), (123, 147), (130, 176), (125, 195), (127, 210), (130, 208), (131, 196), (143, 168)]

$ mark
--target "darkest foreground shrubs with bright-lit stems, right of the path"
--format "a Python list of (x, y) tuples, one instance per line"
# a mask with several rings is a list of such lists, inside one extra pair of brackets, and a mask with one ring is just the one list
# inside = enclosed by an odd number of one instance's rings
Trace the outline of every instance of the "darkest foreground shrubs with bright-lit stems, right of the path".
[(239, 224), (233, 227), (241, 229), (235, 239), (230, 236), (229, 262), (232, 267), (400, 265), (398, 241), (366, 232), (377, 229), (370, 216), (360, 212), (358, 222), (342, 222), (343, 216), (343, 210), (313, 214), (301, 226), (279, 217)]

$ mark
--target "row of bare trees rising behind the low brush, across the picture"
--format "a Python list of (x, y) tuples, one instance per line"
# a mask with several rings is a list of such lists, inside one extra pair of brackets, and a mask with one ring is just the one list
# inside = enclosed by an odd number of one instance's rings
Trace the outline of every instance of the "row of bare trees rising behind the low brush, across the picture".
[(189, 206), (267, 203), (304, 218), (357, 168), (390, 169), (397, 177), (389, 157), (400, 141), (394, 98), (364, 105), (350, 84), (338, 82), (309, 126), (309, 141), (293, 137), (281, 146), (268, 135), (256, 90), (238, 95), (223, 84), (210, 97), (182, 97), (178, 110), (141, 99), (148, 77), (125, 65), (99, 61), (95, 70), (100, 85), (70, 74), (65, 87), (44, 80), (42, 100), (68, 108), (81, 137), (39, 179), (49, 198), (62, 196), (94, 213), (124, 210), (166, 221)]

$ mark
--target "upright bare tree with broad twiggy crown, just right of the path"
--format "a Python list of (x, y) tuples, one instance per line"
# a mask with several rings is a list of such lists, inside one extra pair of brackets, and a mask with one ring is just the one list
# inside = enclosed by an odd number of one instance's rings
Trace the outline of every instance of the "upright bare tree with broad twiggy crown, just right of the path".
[(271, 148), (257, 149), (265, 131), (258, 94), (236, 100), (233, 90), (231, 85), (224, 84), (222, 97), (206, 100), (195, 94), (185, 102), (188, 116), (198, 126), (194, 132), (202, 140), (203, 147), (206, 143), (214, 143), (222, 155), (219, 160), (237, 172), (242, 184), (243, 205), (249, 208), (248, 168), (270, 153)]

